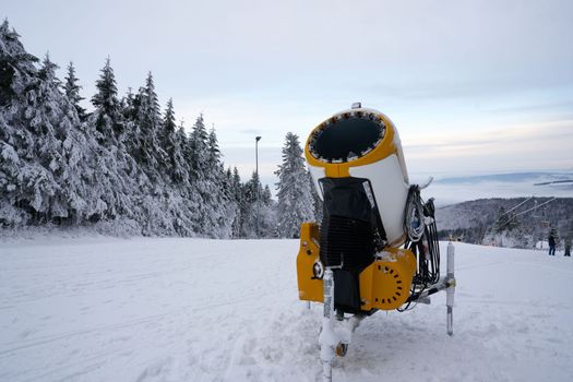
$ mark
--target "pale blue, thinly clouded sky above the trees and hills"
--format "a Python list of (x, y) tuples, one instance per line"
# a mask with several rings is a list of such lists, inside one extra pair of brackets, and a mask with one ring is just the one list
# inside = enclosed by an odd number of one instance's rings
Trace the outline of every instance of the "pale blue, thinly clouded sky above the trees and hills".
[(415, 175), (573, 170), (572, 1), (0, 0), (0, 16), (72, 60), (86, 98), (108, 56), (121, 94), (152, 71), (243, 178), (254, 136), (274, 183), (285, 134), (354, 102), (393, 120)]

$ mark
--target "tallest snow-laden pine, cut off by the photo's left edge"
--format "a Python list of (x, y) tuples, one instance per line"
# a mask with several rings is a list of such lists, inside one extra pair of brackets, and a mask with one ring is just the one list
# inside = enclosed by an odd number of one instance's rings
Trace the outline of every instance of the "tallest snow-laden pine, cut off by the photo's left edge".
[[(35, 159), (35, 132), (28, 128), (38, 86), (38, 59), (24, 49), (4, 20), (0, 26), (0, 225), (35, 217), (49, 184)], [(29, 105), (29, 106), (28, 106)]]

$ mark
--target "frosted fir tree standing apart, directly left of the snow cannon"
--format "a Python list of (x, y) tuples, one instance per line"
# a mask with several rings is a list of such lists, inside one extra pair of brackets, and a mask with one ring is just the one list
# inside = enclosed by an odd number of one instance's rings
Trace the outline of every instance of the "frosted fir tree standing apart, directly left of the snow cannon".
[(288, 132), (283, 147), (283, 164), (278, 176), (278, 225), (282, 237), (298, 237), (300, 224), (314, 219), (314, 205), (309, 175), (302, 158), (298, 136)]

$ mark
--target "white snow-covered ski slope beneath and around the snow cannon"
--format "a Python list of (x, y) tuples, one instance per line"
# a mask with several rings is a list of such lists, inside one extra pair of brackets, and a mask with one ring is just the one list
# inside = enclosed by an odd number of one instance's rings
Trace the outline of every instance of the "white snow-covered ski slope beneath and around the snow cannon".
[[(0, 247), (0, 381), (317, 381), (321, 309), (294, 240), (36, 239)], [(335, 381), (573, 380), (573, 261), (457, 244), (445, 298), (379, 312)]]

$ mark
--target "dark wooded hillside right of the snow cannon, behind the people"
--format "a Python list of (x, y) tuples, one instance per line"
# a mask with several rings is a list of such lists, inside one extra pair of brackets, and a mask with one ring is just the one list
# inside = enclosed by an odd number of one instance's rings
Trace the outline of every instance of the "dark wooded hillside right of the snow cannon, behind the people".
[(573, 198), (480, 199), (440, 207), (435, 216), (440, 238), (470, 243), (504, 235), (512, 238), (510, 247), (530, 248), (551, 228), (559, 238), (573, 236)]

